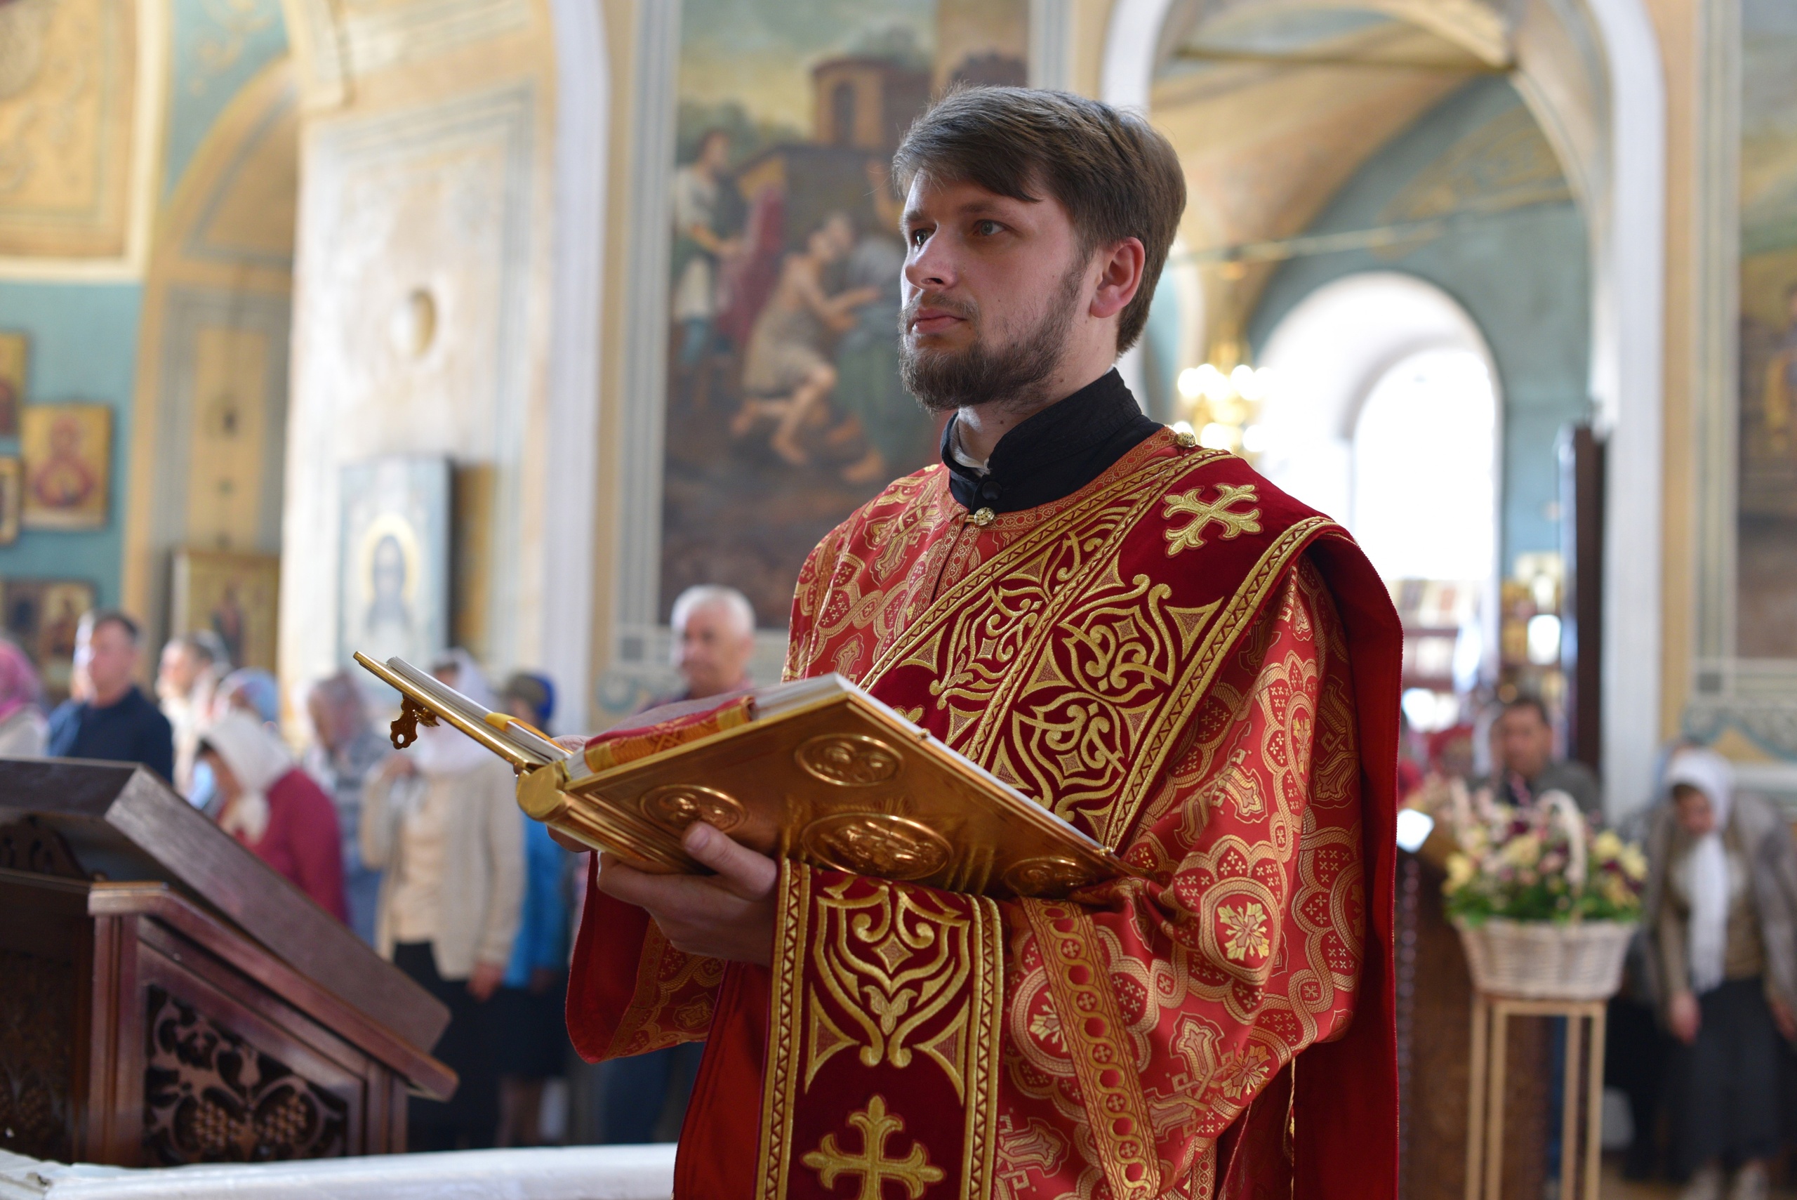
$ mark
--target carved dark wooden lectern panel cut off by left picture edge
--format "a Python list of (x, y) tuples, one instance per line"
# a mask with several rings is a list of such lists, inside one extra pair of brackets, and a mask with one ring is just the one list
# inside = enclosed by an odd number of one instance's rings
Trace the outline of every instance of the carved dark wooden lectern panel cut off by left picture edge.
[(70, 1159), (75, 968), (0, 950), (0, 1150)]

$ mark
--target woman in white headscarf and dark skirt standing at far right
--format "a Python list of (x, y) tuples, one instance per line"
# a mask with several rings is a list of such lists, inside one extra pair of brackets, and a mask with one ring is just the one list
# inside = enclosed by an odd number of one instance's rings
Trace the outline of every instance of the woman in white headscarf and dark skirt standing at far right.
[(1682, 749), (1648, 839), (1648, 931), (1673, 1062), (1673, 1166), (1687, 1200), (1759, 1200), (1779, 1148), (1779, 1037), (1797, 1040), (1797, 848), (1734, 790), (1729, 760)]

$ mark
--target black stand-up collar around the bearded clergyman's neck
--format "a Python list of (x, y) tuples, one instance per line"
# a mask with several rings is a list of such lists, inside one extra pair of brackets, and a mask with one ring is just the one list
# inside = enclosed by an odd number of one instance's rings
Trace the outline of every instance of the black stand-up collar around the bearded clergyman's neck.
[(969, 512), (994, 514), (1071, 496), (1161, 428), (1143, 415), (1116, 368), (1001, 437), (985, 474), (954, 456), (954, 422), (942, 429), (949, 492)]

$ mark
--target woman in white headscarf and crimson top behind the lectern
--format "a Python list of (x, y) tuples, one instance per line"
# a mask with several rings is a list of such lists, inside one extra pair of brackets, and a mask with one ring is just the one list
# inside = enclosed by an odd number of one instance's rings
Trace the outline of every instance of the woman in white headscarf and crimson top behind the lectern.
[(205, 728), (196, 760), (210, 769), (219, 828), (347, 925), (336, 807), (286, 744), (234, 710)]

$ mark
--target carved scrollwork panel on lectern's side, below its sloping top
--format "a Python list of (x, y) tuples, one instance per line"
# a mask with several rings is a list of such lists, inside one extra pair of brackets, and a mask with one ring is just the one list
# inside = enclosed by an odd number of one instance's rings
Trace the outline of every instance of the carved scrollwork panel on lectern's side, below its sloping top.
[(349, 1105), (189, 1004), (146, 997), (144, 1159), (266, 1162), (349, 1153)]

